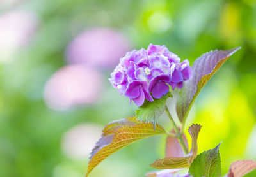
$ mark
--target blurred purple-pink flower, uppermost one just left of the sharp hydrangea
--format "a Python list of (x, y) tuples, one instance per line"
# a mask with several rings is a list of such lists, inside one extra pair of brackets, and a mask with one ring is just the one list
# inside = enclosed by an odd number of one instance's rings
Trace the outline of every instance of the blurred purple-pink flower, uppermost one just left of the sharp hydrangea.
[(95, 28), (82, 32), (67, 48), (70, 64), (90, 64), (111, 68), (129, 50), (125, 36), (113, 29)]

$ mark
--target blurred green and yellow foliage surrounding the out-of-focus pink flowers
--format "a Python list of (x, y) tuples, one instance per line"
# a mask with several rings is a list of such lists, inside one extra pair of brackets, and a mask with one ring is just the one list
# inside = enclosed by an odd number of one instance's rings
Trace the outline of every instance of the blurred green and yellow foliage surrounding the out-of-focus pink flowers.
[[(91, 27), (122, 32), (131, 48), (166, 45), (191, 64), (209, 50), (241, 46), (199, 94), (187, 126), (192, 122), (203, 126), (199, 152), (223, 141), (222, 174), (235, 160), (256, 160), (256, 1), (0, 2), (1, 16), (15, 10), (35, 14), (38, 25), (28, 45), (0, 63), (0, 176), (84, 176), (89, 154), (81, 159), (68, 156), (63, 151), (65, 133), (79, 124), (103, 127), (134, 115), (134, 104), (130, 106), (108, 83), (113, 68), (97, 68), (105, 81), (95, 103), (65, 111), (51, 110), (44, 103), (45, 83), (67, 65), (68, 43)], [(143, 176), (152, 171), (148, 164), (163, 157), (163, 149), (164, 138), (144, 139), (102, 162), (92, 177)]]

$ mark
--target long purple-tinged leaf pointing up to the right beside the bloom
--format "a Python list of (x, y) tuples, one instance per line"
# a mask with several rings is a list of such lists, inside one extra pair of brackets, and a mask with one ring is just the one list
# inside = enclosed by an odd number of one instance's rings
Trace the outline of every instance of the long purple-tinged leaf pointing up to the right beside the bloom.
[(186, 120), (188, 112), (200, 90), (211, 79), (212, 75), (220, 69), (228, 57), (239, 49), (240, 47), (232, 50), (214, 50), (195, 60), (192, 66), (192, 77), (188, 81), (184, 81), (184, 86), (177, 100), (176, 110), (180, 122), (186, 122), (184, 120)]

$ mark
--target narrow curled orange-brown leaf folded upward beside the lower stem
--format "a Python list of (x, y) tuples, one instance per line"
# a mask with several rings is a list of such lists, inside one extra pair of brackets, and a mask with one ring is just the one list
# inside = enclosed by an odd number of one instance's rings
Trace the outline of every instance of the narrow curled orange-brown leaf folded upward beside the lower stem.
[(156, 169), (174, 169), (174, 168), (185, 168), (189, 167), (193, 159), (197, 155), (197, 138), (201, 129), (201, 125), (192, 124), (188, 132), (192, 139), (191, 150), (188, 155), (184, 157), (165, 157), (164, 159), (157, 159), (155, 162), (150, 164), (151, 167)]

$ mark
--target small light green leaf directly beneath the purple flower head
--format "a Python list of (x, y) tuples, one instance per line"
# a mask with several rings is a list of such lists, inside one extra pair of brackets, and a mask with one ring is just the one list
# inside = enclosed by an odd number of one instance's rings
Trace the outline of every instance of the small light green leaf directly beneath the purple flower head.
[(153, 102), (145, 100), (145, 103), (136, 110), (137, 119), (143, 122), (152, 122), (156, 127), (157, 118), (163, 114), (168, 97), (172, 97), (170, 92), (161, 99), (154, 99)]

